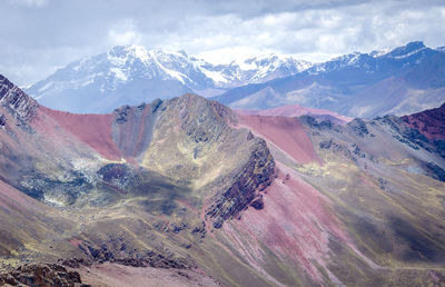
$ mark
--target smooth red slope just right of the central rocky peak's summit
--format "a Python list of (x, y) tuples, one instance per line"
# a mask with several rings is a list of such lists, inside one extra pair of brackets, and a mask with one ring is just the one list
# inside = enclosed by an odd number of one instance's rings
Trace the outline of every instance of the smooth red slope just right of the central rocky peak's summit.
[(239, 125), (273, 142), (299, 164), (320, 162), (298, 118), (238, 115)]

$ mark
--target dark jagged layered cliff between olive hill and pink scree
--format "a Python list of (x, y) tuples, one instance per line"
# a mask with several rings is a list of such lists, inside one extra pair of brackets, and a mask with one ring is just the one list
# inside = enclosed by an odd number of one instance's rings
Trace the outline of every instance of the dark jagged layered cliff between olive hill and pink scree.
[(275, 160), (266, 142), (260, 140), (231, 187), (216, 196), (215, 204), (206, 210), (206, 217), (212, 219), (215, 228), (220, 228), (225, 220), (236, 218), (249, 205), (261, 209), (261, 191), (271, 184), (274, 175)]

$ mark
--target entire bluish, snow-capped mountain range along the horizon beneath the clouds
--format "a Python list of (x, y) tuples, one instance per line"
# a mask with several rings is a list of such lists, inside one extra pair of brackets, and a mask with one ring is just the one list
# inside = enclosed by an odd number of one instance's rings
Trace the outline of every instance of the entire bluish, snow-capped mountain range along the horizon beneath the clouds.
[(322, 63), (270, 55), (229, 65), (126, 46), (75, 61), (26, 91), (50, 108), (83, 113), (194, 92), (237, 109), (300, 105), (374, 118), (438, 107), (444, 63), (443, 47), (423, 42)]

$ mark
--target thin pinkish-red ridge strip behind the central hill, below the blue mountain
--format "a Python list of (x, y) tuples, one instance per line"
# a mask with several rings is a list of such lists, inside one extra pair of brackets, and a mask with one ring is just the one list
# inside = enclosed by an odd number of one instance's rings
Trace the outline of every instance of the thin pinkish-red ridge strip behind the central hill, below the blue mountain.
[(312, 116), (319, 120), (330, 120), (336, 125), (345, 125), (353, 120), (353, 118), (338, 115), (333, 111), (323, 109), (310, 109), (301, 107), (299, 105), (288, 105), (278, 108), (267, 109), (267, 110), (238, 110), (240, 113), (245, 115), (258, 115), (258, 116), (283, 116), (283, 117), (300, 117), (300, 116)]

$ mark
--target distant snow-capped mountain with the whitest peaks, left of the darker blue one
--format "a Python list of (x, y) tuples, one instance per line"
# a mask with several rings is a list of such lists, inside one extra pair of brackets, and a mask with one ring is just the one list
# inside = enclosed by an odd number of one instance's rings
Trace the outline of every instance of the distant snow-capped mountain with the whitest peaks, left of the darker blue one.
[(309, 62), (270, 55), (214, 66), (184, 51), (148, 51), (118, 46), (75, 61), (26, 91), (47, 107), (73, 112), (109, 112), (186, 92), (215, 96), (229, 88), (297, 73)]

